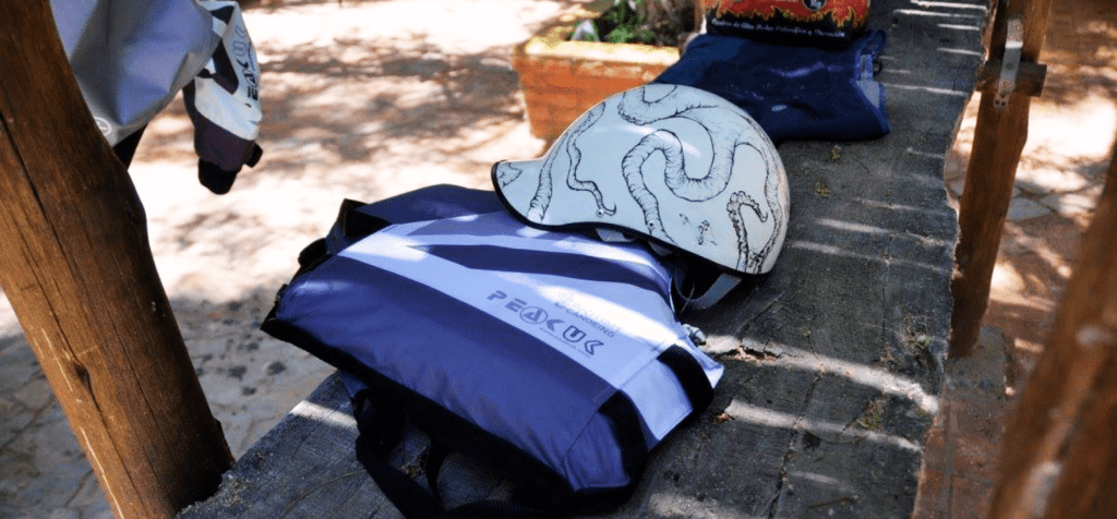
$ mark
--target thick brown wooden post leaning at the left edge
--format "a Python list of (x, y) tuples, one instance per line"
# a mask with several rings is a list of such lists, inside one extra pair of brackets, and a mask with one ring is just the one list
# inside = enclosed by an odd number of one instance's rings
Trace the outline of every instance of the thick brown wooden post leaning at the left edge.
[(232, 456), (47, 0), (0, 1), (0, 287), (116, 517), (213, 493)]

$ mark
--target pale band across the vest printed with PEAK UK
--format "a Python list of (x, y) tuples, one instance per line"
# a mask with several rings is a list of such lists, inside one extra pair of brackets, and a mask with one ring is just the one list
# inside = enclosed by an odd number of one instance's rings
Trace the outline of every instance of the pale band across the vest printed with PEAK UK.
[[(680, 329), (670, 321), (657, 320), (646, 313), (648, 289), (638, 285), (609, 283), (550, 275), (541, 278), (516, 270), (470, 268), (468, 261), (454, 261), (427, 250), (432, 244), (472, 244), (484, 241), (512, 250), (560, 249), (556, 243), (533, 236), (519, 236), (523, 228), (512, 220), (512, 232), (499, 233), (489, 227), (483, 236), (442, 234), (432, 222), (414, 222), (382, 229), (338, 253), (360, 262), (418, 281), (445, 296), (477, 308), (538, 339), (540, 346), (551, 347), (602, 377), (613, 387), (621, 387), (649, 358), (680, 340)], [(439, 221), (443, 222), (443, 221)], [(437, 231), (437, 232), (435, 232)], [(596, 246), (595, 243), (591, 243)], [(594, 247), (601, 257), (622, 256)], [(561, 248), (561, 253), (579, 252)], [(491, 254), (491, 250), (485, 253)], [(564, 257), (565, 258), (565, 257)], [(508, 266), (514, 269), (515, 266)], [(608, 290), (609, 297), (602, 297)], [(529, 342), (525, 342), (529, 344)]]

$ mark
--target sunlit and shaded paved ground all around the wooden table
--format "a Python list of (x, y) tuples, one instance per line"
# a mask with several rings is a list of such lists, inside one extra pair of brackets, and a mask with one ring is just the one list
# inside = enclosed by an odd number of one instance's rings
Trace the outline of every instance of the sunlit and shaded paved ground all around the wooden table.
[[(279, 2), (277, 2), (279, 3)], [(155, 261), (214, 414), (242, 453), (332, 369), (258, 331), (298, 251), (343, 199), (489, 186), (535, 157), (510, 49), (573, 0), (294, 0), (250, 7), (264, 70), (264, 160), (216, 196), (175, 102), (131, 169)], [(1014, 379), (1042, 347), (1117, 135), (1117, 23), (1106, 0), (1056, 2), (1049, 83), (1001, 246), (987, 326)], [(313, 28), (313, 29), (312, 29)], [(975, 109), (945, 175), (955, 194)], [(1027, 218), (1025, 218), (1027, 217)], [(88, 463), (0, 297), (0, 518), (109, 517)]]

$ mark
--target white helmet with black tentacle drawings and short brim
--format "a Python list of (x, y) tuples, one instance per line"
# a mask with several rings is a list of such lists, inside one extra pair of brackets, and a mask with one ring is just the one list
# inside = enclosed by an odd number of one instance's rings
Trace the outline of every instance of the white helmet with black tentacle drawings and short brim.
[(528, 224), (645, 238), (733, 280), (772, 270), (787, 231), (787, 175), (772, 141), (736, 105), (680, 85), (609, 97), (543, 157), (495, 164), (493, 183)]

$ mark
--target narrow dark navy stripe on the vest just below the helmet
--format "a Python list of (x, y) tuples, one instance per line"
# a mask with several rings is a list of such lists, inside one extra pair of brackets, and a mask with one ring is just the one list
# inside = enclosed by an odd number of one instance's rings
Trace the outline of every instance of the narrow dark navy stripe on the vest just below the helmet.
[(613, 259), (591, 258), (584, 254), (542, 252), (491, 246), (429, 246), (427, 253), (477, 270), (522, 272), (527, 275), (563, 276), (588, 281), (622, 282), (659, 294), (665, 301), (669, 295), (656, 283), (656, 272), (639, 263)]

